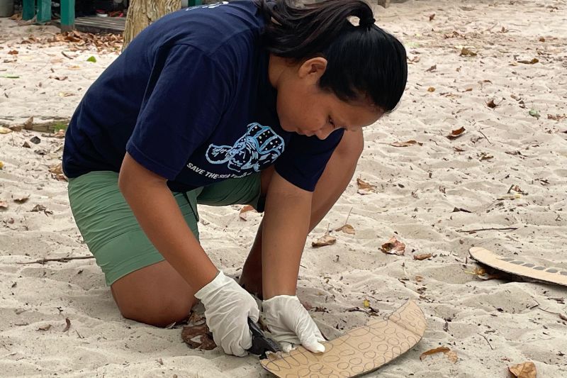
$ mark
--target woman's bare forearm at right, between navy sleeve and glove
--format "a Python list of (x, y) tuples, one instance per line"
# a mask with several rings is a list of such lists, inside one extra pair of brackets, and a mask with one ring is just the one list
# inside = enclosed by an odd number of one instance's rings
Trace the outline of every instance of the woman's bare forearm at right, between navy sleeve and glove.
[(271, 179), (262, 229), (264, 299), (296, 295), (297, 277), (309, 232), (313, 193), (296, 187), (277, 172)]

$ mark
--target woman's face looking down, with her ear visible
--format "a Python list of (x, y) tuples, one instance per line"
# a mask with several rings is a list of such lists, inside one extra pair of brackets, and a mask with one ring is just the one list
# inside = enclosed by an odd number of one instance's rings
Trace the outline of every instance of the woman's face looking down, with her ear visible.
[(320, 89), (318, 82), (326, 67), (327, 60), (316, 57), (282, 68), (274, 87), (283, 130), (325, 139), (338, 128), (359, 130), (382, 116), (383, 111), (365, 101), (347, 103)]

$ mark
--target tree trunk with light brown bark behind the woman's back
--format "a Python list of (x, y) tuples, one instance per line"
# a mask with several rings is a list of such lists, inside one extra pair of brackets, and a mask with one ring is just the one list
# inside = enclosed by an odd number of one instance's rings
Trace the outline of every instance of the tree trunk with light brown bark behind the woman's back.
[(131, 0), (126, 16), (122, 50), (150, 23), (179, 9), (181, 0)]

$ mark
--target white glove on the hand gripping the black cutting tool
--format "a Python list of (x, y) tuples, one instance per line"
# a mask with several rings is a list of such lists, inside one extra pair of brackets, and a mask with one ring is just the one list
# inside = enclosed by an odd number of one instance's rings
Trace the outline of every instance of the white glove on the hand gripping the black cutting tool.
[(252, 296), (219, 271), (213, 281), (195, 293), (205, 306), (207, 326), (215, 344), (228, 355), (245, 356), (252, 347), (248, 318), (258, 321), (260, 310)]

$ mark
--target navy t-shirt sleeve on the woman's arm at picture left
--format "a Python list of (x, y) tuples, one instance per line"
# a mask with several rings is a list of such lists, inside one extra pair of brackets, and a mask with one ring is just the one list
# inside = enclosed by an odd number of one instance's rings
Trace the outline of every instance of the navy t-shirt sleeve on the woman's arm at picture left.
[(126, 150), (146, 169), (174, 180), (213, 133), (230, 99), (228, 77), (189, 45), (162, 48)]

